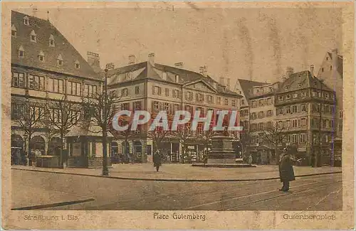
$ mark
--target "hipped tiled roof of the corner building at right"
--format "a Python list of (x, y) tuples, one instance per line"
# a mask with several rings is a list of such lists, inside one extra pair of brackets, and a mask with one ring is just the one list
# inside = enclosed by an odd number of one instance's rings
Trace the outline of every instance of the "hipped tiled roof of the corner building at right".
[(304, 70), (302, 72), (295, 72), (290, 75), (285, 81), (282, 82), (281, 87), (278, 89), (278, 93), (281, 92), (292, 92), (295, 90), (314, 88), (320, 89), (320, 84), (323, 84), (323, 90), (329, 90), (330, 87), (321, 83), (317, 77), (312, 77), (309, 70)]

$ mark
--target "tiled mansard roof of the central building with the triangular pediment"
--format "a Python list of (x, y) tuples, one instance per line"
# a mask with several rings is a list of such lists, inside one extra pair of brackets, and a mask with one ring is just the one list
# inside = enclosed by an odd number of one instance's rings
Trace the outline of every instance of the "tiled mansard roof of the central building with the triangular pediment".
[[(150, 62), (143, 62), (143, 63), (135, 63), (132, 65), (127, 65), (122, 68), (116, 68), (113, 70), (108, 71), (108, 76), (112, 76), (109, 85), (114, 84), (115, 82), (118, 82), (117, 78), (119, 78), (120, 74), (126, 73), (126, 72), (134, 72), (136, 70), (143, 69), (140, 74), (138, 74), (135, 77), (135, 80), (141, 80), (145, 78), (150, 78), (150, 79), (155, 79), (155, 80), (163, 80), (161, 72), (166, 72), (167, 73), (167, 78), (165, 81), (167, 82), (175, 82), (175, 75), (179, 75), (179, 84), (186, 85), (189, 82), (194, 82), (197, 80), (204, 80), (207, 84), (209, 84), (211, 87), (214, 87), (216, 85), (216, 91), (220, 93), (225, 93), (229, 95), (236, 95), (239, 96), (239, 94), (236, 94), (236, 92), (233, 92), (231, 90), (228, 90), (225, 86), (220, 85), (218, 82), (213, 80), (209, 75), (204, 76), (201, 75), (198, 72), (194, 72), (191, 70), (185, 70), (182, 68), (175, 68), (171, 67), (168, 65), (163, 65), (159, 63), (155, 63), (152, 65)], [(130, 80), (127, 80), (130, 81)], [(215, 88), (215, 87), (214, 87)]]

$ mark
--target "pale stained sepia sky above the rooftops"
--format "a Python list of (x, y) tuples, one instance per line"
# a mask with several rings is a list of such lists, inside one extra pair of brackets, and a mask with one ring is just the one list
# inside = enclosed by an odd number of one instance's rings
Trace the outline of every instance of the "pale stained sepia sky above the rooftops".
[[(342, 48), (342, 14), (336, 8), (196, 9), (19, 9), (49, 18), (86, 59), (100, 55), (100, 65), (127, 65), (155, 53), (155, 62), (184, 63), (216, 80), (230, 78), (274, 82), (295, 72), (318, 72), (327, 50)], [(49, 14), (47, 14), (49, 11)]]

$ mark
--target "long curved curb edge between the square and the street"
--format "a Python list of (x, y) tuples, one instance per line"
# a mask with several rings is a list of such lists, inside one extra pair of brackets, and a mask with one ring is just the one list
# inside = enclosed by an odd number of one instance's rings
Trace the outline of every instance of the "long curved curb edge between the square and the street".
[[(66, 174), (66, 175), (73, 175), (73, 176), (93, 176), (93, 177), (100, 177), (100, 178), (113, 178), (118, 180), (129, 180), (129, 181), (163, 181), (163, 182), (239, 182), (239, 181), (271, 181), (271, 180), (279, 180), (279, 177), (271, 177), (271, 178), (258, 178), (258, 179), (164, 179), (164, 178), (130, 178), (130, 177), (122, 177), (122, 176), (98, 176), (98, 175), (90, 175), (90, 174), (83, 174), (83, 173), (62, 173), (58, 171), (46, 171), (46, 170), (37, 170), (37, 169), (23, 169), (23, 168), (11, 168), (15, 170), (21, 171), (36, 171), (42, 173), (57, 173), (57, 174)], [(303, 177), (303, 176), (320, 176), (320, 175), (328, 175), (328, 174), (335, 174), (335, 173), (342, 173), (342, 171), (335, 171), (332, 173), (312, 173), (312, 174), (304, 174), (298, 175), (295, 177)]]

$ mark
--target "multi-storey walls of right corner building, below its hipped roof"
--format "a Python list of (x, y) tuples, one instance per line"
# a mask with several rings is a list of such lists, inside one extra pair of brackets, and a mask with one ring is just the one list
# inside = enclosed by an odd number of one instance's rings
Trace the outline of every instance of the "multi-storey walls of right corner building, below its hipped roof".
[[(329, 96), (332, 92), (323, 91)], [(296, 146), (300, 154), (310, 157), (317, 151), (318, 135), (322, 136), (322, 149), (325, 156), (330, 155), (330, 142), (335, 128), (333, 123), (333, 100), (320, 98), (320, 90), (309, 88), (293, 92), (284, 92), (276, 96), (276, 122), (288, 127), (284, 142)], [(304, 95), (304, 96), (302, 96)], [(289, 100), (288, 100), (289, 99)], [(320, 102), (322, 104), (319, 131)]]

